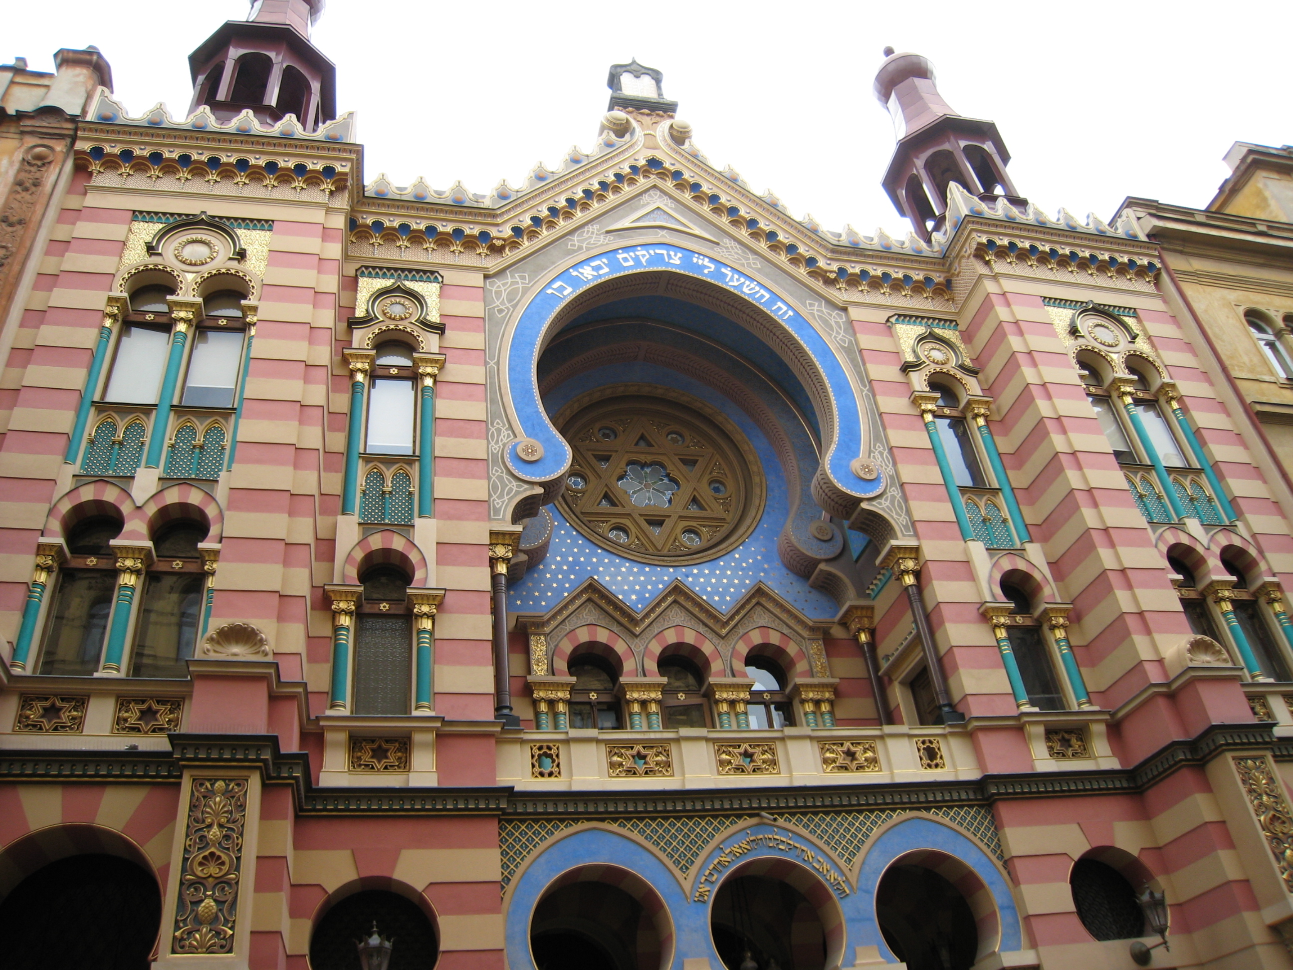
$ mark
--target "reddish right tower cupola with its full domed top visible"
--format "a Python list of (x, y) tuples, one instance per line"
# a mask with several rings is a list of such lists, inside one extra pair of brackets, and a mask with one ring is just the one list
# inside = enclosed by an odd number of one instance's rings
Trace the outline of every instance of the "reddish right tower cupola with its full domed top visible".
[(1023, 203), (1006, 173), (1010, 151), (996, 123), (957, 114), (939, 93), (928, 58), (884, 48), (875, 97), (897, 135), (884, 190), (926, 239), (943, 226), (952, 182), (984, 199)]

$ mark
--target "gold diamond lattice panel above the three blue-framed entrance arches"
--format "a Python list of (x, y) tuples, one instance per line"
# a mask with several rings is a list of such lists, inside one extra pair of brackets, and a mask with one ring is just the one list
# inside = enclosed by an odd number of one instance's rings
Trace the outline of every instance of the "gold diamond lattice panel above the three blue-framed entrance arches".
[[(821, 845), (831, 850), (846, 865), (852, 865), (866, 841), (888, 821), (912, 810), (875, 808), (870, 811), (839, 812), (777, 812), (778, 821), (799, 826)], [(971, 835), (998, 861), (1006, 856), (1001, 850), (1001, 837), (992, 811), (981, 804), (937, 806), (921, 810), (927, 815), (945, 819)], [(504, 819), (499, 824), (499, 848), (503, 861), (503, 887), (512, 881), (521, 864), (553, 835), (584, 821), (600, 821), (632, 832), (658, 848), (678, 870), (687, 876), (701, 852), (732, 825), (756, 821), (746, 816), (637, 816), (631, 819)]]

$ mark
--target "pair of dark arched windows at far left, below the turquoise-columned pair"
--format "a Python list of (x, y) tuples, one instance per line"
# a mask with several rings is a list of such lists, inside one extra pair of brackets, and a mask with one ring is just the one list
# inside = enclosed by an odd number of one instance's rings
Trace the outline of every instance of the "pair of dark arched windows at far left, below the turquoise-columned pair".
[(109, 631), (124, 626), (123, 674), (189, 675), (185, 661), (197, 645), (206, 601), (198, 544), (208, 529), (191, 519), (160, 525), (151, 537), (155, 560), (140, 563), (138, 578), (131, 577), (134, 594), (123, 603), (120, 583), (129, 570), (118, 568), (111, 544), (122, 528), (120, 519), (101, 515), (67, 533), (69, 557), (53, 581), (37, 673), (89, 676), (103, 670)]

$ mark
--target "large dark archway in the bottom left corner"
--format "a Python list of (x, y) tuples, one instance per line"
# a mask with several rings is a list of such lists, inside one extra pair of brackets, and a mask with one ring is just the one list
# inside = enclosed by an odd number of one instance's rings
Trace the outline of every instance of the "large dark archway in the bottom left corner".
[(160, 922), (153, 873), (115, 855), (67, 856), (32, 872), (0, 903), (4, 965), (146, 970)]

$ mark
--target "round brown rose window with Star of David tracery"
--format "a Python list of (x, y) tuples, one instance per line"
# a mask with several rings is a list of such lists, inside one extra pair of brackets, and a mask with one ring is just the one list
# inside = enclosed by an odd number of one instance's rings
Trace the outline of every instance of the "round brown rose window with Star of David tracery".
[(562, 435), (574, 458), (561, 511), (603, 548), (646, 563), (698, 563), (740, 543), (763, 510), (750, 445), (681, 404), (605, 398), (578, 409)]

